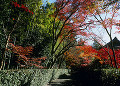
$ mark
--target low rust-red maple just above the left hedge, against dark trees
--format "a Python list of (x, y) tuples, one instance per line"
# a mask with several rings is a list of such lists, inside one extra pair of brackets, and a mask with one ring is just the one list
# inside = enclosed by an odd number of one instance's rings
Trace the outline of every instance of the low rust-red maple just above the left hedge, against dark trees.
[(32, 53), (33, 47), (28, 46), (28, 47), (22, 47), (18, 45), (14, 45), (12, 43), (9, 43), (9, 47), (11, 48), (11, 51), (13, 53), (17, 54), (17, 63), (19, 64), (19, 67), (22, 68), (29, 68), (29, 67), (34, 67), (34, 68), (45, 68), (41, 66), (42, 61), (46, 60), (46, 57), (40, 57), (40, 58), (31, 58), (30, 53)]

